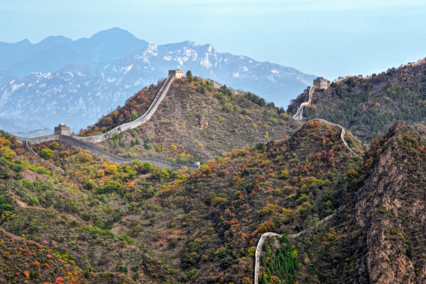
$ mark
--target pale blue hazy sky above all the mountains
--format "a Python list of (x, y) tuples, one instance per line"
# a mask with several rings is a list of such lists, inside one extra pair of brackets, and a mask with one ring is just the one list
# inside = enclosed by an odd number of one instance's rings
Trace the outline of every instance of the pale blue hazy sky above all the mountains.
[(119, 27), (192, 40), (335, 79), (426, 56), (425, 0), (0, 0), (0, 41), (74, 40)]

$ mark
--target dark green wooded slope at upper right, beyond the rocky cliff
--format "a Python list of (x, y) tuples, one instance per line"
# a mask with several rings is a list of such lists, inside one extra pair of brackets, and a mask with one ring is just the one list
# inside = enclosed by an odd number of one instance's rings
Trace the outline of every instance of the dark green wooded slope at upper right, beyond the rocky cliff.
[[(308, 90), (288, 106), (296, 113)], [(351, 77), (327, 90), (313, 93), (313, 106), (303, 110), (306, 120), (323, 118), (352, 131), (364, 141), (384, 135), (396, 120), (403, 120), (425, 135), (426, 64), (388, 69), (368, 78)]]

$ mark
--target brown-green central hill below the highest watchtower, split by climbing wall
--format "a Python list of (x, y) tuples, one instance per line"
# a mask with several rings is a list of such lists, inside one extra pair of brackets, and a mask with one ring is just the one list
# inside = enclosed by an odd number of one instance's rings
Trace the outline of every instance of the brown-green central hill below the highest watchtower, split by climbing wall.
[[(142, 89), (98, 123), (82, 130), (96, 135), (145, 113), (157, 86)], [(177, 162), (207, 162), (227, 157), (232, 149), (257, 142), (282, 139), (300, 124), (284, 109), (252, 93), (233, 92), (226, 86), (215, 88), (212, 81), (196, 76), (175, 79), (152, 118), (137, 129), (127, 130), (103, 142), (114, 154), (148, 156)]]

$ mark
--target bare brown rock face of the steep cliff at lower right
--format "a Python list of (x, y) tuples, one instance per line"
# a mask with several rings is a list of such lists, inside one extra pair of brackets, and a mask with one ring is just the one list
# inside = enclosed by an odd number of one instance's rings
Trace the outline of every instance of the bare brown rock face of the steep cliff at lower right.
[(417, 140), (407, 125), (396, 123), (372, 144), (378, 157), (366, 160), (373, 165), (355, 211), (366, 234), (357, 269), (368, 274), (370, 283), (425, 283), (426, 159), (424, 142)]

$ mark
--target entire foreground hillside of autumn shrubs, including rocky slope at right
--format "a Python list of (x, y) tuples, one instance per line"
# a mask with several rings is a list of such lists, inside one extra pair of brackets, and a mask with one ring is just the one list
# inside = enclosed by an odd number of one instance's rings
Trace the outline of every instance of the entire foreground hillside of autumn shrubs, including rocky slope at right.
[(276, 232), (259, 283), (422, 283), (425, 140), (404, 123), (367, 152), (346, 139), (362, 159), (312, 122), (196, 171), (34, 147), (61, 174), (1, 132), (0, 280), (249, 284), (259, 237)]

